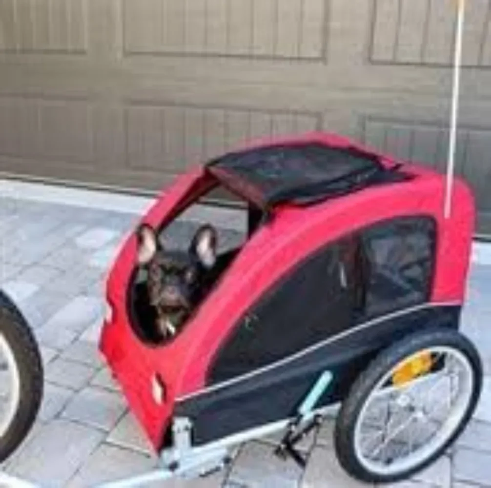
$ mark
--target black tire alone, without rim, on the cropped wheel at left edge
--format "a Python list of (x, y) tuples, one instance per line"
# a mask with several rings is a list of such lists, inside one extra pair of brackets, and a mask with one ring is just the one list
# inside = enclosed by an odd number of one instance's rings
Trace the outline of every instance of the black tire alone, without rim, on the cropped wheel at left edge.
[(36, 340), (14, 303), (0, 291), (0, 335), (13, 353), (19, 372), (20, 399), (16, 413), (0, 435), (0, 462), (26, 438), (43, 397), (43, 364)]

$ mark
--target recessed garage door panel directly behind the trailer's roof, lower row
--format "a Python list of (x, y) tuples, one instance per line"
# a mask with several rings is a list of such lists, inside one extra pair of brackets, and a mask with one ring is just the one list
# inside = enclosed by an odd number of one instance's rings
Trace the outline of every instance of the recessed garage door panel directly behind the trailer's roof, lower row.
[(249, 138), (318, 127), (318, 114), (186, 106), (126, 108), (127, 167), (177, 173)]

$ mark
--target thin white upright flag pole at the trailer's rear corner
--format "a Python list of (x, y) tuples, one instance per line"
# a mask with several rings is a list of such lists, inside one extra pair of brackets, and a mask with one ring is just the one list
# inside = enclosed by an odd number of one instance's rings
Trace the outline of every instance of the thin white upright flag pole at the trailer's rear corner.
[(458, 0), (457, 26), (455, 32), (454, 49), (454, 77), (452, 87), (452, 108), (450, 113), (450, 136), (448, 143), (447, 181), (445, 188), (445, 218), (449, 218), (452, 212), (452, 190), (455, 173), (455, 149), (457, 144), (457, 124), (459, 118), (459, 96), (462, 69), (462, 44), (464, 33), (465, 0)]

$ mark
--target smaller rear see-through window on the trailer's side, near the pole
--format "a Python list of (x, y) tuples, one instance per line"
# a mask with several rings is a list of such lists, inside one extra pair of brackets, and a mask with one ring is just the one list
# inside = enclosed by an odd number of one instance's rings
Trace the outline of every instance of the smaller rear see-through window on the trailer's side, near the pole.
[(435, 223), (407, 217), (363, 231), (368, 261), (365, 317), (374, 317), (428, 300), (433, 271)]

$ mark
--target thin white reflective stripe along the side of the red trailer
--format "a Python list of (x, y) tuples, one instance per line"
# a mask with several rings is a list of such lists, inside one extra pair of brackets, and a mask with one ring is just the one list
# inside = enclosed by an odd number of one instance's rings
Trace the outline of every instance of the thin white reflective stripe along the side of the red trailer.
[(313, 352), (317, 349), (320, 349), (323, 346), (326, 346), (327, 344), (330, 344), (331, 342), (337, 341), (339, 339), (343, 339), (344, 337), (347, 337), (351, 334), (354, 334), (355, 332), (359, 332), (360, 330), (366, 329), (372, 325), (377, 325), (380, 324), (381, 322), (385, 322), (386, 320), (390, 320), (396, 317), (400, 317), (402, 315), (407, 315), (412, 312), (416, 312), (418, 310), (424, 310), (425, 308), (436, 308), (436, 307), (450, 307), (450, 306), (461, 306), (462, 303), (459, 301), (453, 301), (453, 302), (440, 302), (440, 303), (420, 303), (419, 305), (414, 305), (409, 308), (405, 308), (404, 310), (398, 310), (396, 312), (391, 312), (387, 315), (383, 315), (381, 317), (377, 317), (375, 319), (369, 320), (368, 322), (365, 322), (360, 325), (356, 325), (355, 327), (352, 327), (348, 330), (345, 330), (344, 332), (340, 332), (339, 334), (336, 334), (332, 337), (329, 337), (328, 339), (325, 339), (324, 341), (318, 342), (317, 344), (314, 344), (312, 346), (309, 346), (306, 349), (302, 349), (299, 352), (296, 352), (295, 354), (292, 354), (291, 356), (285, 357), (283, 359), (280, 359), (278, 361), (275, 361), (271, 364), (268, 364), (268, 366), (264, 366), (262, 368), (255, 369), (253, 371), (250, 371), (244, 375), (237, 376), (235, 378), (231, 378), (230, 380), (225, 380), (222, 381), (221, 383), (217, 383), (211, 386), (208, 386), (206, 388), (203, 388), (202, 390), (195, 391), (193, 393), (190, 393), (189, 395), (183, 395), (182, 397), (179, 397), (176, 399), (176, 402), (184, 402), (185, 400), (189, 400), (190, 398), (204, 395), (205, 393), (211, 393), (213, 391), (219, 390), (221, 388), (225, 388), (227, 386), (230, 386), (234, 383), (238, 383), (240, 381), (247, 380), (248, 378), (252, 378), (253, 376), (259, 375), (261, 373), (264, 373), (266, 371), (269, 371), (271, 369), (277, 368), (279, 366), (282, 366), (284, 364), (287, 364), (291, 361), (294, 361), (295, 359), (298, 359), (299, 357), (302, 357), (310, 352)]

